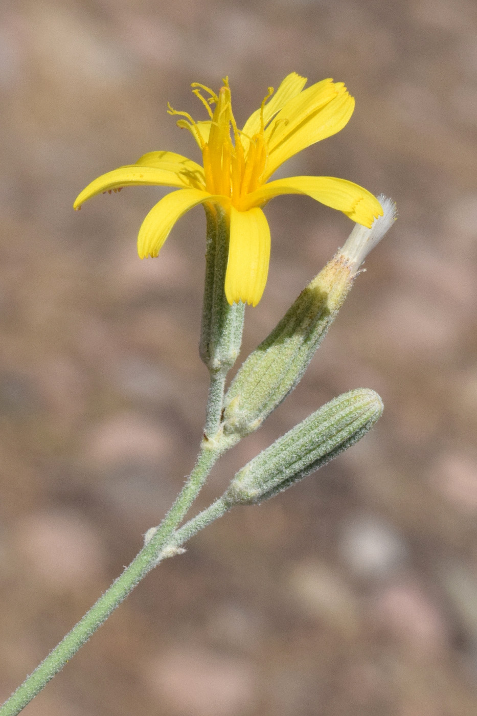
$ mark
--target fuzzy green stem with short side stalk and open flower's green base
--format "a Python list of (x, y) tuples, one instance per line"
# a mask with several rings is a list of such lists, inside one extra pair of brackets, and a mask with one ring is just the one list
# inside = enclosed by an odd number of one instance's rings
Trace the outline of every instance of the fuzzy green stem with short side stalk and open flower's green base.
[[(76, 654), (78, 649), (99, 629), (103, 621), (133, 591), (136, 584), (153, 569), (165, 556), (170, 538), (186, 516), (201, 487), (206, 481), (212, 465), (233, 442), (223, 437), (221, 417), (223, 392), (228, 369), (238, 356), (244, 324), (242, 303), (229, 306), (224, 293), (224, 281), (228, 258), (228, 217), (221, 208), (207, 210), (207, 249), (206, 249), (206, 286), (204, 292), (201, 358), (206, 363), (211, 384), (208, 392), (206, 425), (201, 450), (196, 466), (189, 475), (186, 484), (180, 491), (173, 506), (160, 523), (150, 541), (138, 553), (138, 556), (122, 572), (110, 589), (103, 594), (96, 604), (78, 621), (69, 634), (53, 649), (44, 661), (39, 664), (23, 684), (0, 707), (0, 716), (15, 716), (28, 704)], [(188, 539), (195, 531), (202, 529), (210, 521), (221, 516), (228, 509), (225, 502), (217, 500), (211, 510), (194, 518), (186, 532), (180, 533), (171, 546), (178, 546), (177, 540)], [(184, 526), (186, 528), (187, 526)], [(182, 542), (180, 542), (182, 543)]]

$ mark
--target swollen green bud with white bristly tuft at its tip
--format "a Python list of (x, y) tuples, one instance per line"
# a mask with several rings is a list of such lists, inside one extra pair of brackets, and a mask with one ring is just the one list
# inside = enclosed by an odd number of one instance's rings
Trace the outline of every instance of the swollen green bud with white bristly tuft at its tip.
[(226, 434), (244, 436), (256, 430), (302, 379), (362, 261), (394, 222), (394, 203), (382, 195), (380, 201), (384, 216), (370, 229), (355, 226), (344, 247), (302, 291), (236, 374), (224, 401)]

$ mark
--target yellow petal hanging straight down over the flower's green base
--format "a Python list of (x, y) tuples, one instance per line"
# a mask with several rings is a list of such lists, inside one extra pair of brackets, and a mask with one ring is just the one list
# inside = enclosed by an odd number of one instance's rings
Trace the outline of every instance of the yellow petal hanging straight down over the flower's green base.
[(269, 273), (270, 229), (259, 208), (238, 211), (231, 207), (230, 245), (225, 292), (229, 304), (256, 306)]

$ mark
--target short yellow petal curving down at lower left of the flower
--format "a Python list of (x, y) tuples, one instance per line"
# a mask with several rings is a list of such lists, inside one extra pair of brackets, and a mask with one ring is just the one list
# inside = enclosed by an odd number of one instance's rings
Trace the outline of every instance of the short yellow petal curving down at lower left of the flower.
[(169, 236), (178, 219), (204, 201), (223, 200), (198, 189), (182, 189), (166, 194), (148, 213), (139, 230), (138, 253), (140, 258), (158, 256), (160, 247)]

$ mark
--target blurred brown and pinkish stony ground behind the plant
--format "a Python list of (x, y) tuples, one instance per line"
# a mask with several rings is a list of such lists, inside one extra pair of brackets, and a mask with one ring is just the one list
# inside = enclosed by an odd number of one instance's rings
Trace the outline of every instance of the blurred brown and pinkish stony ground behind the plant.
[[(477, 710), (477, 5), (473, 0), (3, 0), (0, 697), (130, 562), (201, 439), (205, 220), (140, 261), (165, 192), (72, 202), (152, 150), (199, 159), (166, 102), (228, 74), (238, 124), (291, 71), (344, 81), (349, 125), (287, 173), (397, 201), (302, 384), (196, 505), (319, 405), (382, 395), (318, 475), (196, 536), (25, 714), (463, 716)], [(352, 223), (280, 197), (246, 356)]]

